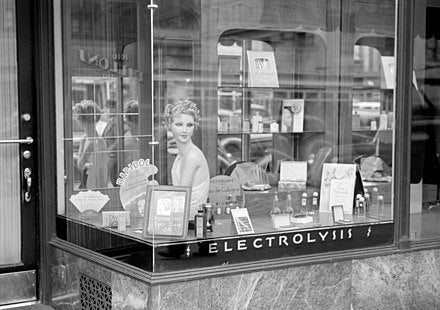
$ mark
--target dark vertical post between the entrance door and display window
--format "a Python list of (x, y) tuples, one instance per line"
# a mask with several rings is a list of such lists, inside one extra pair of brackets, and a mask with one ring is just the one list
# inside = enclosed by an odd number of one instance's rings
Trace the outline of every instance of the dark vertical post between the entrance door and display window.
[[(37, 250), (37, 299), (50, 304), (52, 299), (52, 248), (49, 245), (55, 234), (57, 204), (56, 136), (55, 136), (55, 82), (54, 82), (54, 36), (52, 0), (16, 0), (22, 24), (31, 26), (33, 36), (33, 86), (35, 108), (34, 143), (38, 150), (38, 250)], [(17, 11), (18, 12), (18, 11)], [(17, 15), (20, 15), (17, 14)], [(31, 21), (31, 22), (29, 22)], [(44, 156), (42, 156), (44, 154)]]

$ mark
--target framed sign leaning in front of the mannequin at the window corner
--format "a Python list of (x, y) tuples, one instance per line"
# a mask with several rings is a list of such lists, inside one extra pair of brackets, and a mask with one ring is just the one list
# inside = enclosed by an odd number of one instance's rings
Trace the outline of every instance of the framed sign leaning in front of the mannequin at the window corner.
[(189, 186), (147, 186), (143, 237), (186, 238), (190, 202)]

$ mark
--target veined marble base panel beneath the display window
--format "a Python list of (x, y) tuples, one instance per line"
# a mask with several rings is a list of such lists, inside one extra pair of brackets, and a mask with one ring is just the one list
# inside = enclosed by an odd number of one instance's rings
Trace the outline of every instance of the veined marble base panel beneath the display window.
[(80, 273), (111, 287), (112, 309), (440, 309), (440, 250), (155, 286), (60, 250), (53, 258), (56, 309), (80, 309)]

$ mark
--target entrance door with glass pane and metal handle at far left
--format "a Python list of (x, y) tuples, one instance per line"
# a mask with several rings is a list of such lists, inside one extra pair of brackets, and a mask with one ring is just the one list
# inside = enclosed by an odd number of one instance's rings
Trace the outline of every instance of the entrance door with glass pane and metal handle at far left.
[(37, 296), (33, 1), (0, 1), (0, 308)]

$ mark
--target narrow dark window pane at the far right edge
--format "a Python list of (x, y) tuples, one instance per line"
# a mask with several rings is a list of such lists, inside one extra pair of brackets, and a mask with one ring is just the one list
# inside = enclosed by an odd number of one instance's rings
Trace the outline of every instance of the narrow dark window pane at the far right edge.
[(438, 239), (440, 232), (439, 12), (436, 1), (415, 6), (410, 180), (414, 241)]

